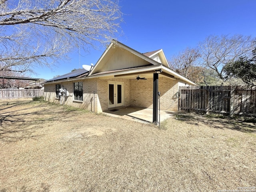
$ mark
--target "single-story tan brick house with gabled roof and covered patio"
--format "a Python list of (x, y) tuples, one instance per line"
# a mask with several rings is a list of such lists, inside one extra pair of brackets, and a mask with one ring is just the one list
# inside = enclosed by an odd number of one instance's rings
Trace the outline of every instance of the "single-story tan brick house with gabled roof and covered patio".
[[(162, 49), (142, 54), (113, 40), (91, 70), (47, 80), (44, 96), (93, 112), (120, 106), (152, 108), (157, 122), (158, 92), (161, 110), (177, 111), (178, 86), (184, 85), (195, 84), (169, 68)], [(59, 93), (60, 88), (68, 94)]]

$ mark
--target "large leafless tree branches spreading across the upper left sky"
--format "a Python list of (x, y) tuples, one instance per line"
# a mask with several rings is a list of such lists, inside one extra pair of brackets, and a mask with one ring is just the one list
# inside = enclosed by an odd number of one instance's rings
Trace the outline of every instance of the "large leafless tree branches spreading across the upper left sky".
[(1, 0), (0, 71), (32, 72), (110, 42), (121, 21), (118, 0)]

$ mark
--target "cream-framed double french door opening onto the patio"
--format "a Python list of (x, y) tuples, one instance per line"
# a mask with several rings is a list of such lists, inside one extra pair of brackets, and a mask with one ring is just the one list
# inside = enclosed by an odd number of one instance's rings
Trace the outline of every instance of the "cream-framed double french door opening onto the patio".
[(124, 83), (108, 83), (108, 108), (123, 106)]

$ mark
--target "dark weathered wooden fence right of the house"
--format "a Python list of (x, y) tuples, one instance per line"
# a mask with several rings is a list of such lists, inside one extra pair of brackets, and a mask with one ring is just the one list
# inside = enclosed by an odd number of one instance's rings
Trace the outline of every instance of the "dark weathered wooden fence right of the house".
[(180, 110), (256, 116), (256, 86), (180, 86)]

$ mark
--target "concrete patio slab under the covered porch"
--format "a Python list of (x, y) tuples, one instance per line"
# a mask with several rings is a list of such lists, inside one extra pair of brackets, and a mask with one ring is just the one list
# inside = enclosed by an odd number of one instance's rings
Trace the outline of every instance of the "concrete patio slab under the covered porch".
[[(159, 111), (158, 111), (159, 112)], [(133, 120), (143, 123), (151, 123), (153, 120), (153, 109), (140, 107), (116, 107), (109, 108), (103, 112), (106, 115)], [(173, 116), (175, 112), (160, 110), (160, 122)], [(159, 118), (159, 114), (158, 114)]]

